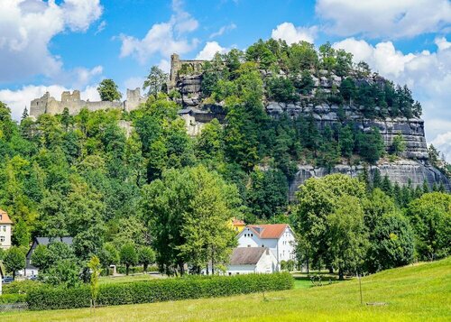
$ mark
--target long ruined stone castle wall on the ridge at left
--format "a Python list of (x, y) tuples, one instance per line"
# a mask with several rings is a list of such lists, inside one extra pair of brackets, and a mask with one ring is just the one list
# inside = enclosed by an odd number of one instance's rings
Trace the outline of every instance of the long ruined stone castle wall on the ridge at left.
[(82, 108), (87, 108), (89, 111), (120, 109), (129, 112), (138, 108), (145, 101), (146, 97), (141, 96), (139, 87), (127, 89), (127, 97), (124, 102), (85, 101), (81, 99), (79, 90), (74, 90), (72, 93), (64, 91), (61, 93), (61, 100), (57, 101), (55, 97), (51, 97), (49, 92), (46, 92), (42, 97), (32, 100), (30, 103), (30, 116), (37, 118), (42, 114), (62, 114), (66, 107), (69, 109), (70, 115), (77, 115)]

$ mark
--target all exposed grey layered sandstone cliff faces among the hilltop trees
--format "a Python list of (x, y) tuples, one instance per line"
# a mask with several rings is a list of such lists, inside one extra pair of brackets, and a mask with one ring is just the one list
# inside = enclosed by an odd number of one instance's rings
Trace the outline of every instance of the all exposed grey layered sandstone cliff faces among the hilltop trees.
[[(263, 75), (264, 78), (264, 75)], [(343, 78), (336, 75), (328, 75), (314, 78), (315, 90), (319, 87), (328, 92), (333, 86), (339, 86)], [(383, 78), (376, 77), (371, 81), (382, 81)], [(221, 104), (206, 105), (203, 103), (201, 92), (202, 75), (189, 75), (178, 78), (175, 88), (179, 91), (180, 97), (178, 103), (185, 108), (180, 115), (185, 118), (189, 133), (196, 135), (202, 130), (203, 124), (213, 118), (224, 120), (224, 111)], [(300, 100), (297, 104), (265, 101), (265, 108), (272, 117), (279, 117), (281, 114), (288, 114), (291, 117), (312, 116), (318, 124), (318, 127), (324, 128), (326, 125), (342, 123), (339, 118), (339, 106), (322, 103), (315, 105), (312, 100)], [(434, 183), (442, 182), (446, 189), (451, 190), (451, 181), (444, 174), (432, 167), (428, 162), (428, 146), (424, 133), (424, 121), (418, 117), (405, 118), (365, 118), (362, 113), (363, 106), (342, 106), (345, 112), (345, 122), (357, 125), (362, 131), (369, 131), (377, 127), (381, 134), (387, 152), (391, 149), (393, 138), (401, 134), (406, 149), (401, 155), (399, 161), (380, 161), (376, 166), (369, 170), (373, 174), (377, 168), (382, 176), (387, 175), (392, 182), (398, 182), (401, 186), (408, 184), (409, 181), (415, 187), (422, 185), (426, 180), (430, 187)], [(377, 109), (378, 107), (376, 107)], [(357, 176), (363, 166), (349, 166), (345, 164), (336, 165), (332, 170), (327, 171), (324, 168), (314, 168), (311, 165), (299, 165), (299, 171), (295, 178), (290, 182), (290, 199), (294, 197), (295, 191), (299, 185), (311, 177), (322, 177), (329, 173), (344, 173), (350, 176)]]

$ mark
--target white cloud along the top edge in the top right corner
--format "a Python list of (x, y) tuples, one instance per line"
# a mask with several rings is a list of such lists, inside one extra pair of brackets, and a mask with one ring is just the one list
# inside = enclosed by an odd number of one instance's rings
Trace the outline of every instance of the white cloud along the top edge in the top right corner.
[(318, 0), (316, 12), (327, 32), (343, 36), (413, 37), (451, 23), (448, 0)]

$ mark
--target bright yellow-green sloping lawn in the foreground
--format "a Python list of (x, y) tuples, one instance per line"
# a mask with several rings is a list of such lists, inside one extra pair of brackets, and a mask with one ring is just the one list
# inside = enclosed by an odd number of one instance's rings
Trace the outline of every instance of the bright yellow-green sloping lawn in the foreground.
[[(305, 280), (299, 280), (298, 286)], [(302, 284), (306, 286), (306, 284)], [(306, 286), (307, 287), (307, 286)], [(322, 287), (219, 299), (0, 314), (4, 321), (449, 321), (451, 258)]]

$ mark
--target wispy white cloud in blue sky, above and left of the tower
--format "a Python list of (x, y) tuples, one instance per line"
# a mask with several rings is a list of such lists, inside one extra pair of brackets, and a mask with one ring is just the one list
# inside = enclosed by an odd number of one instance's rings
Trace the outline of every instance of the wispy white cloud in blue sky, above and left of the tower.
[(122, 41), (120, 57), (133, 56), (144, 64), (153, 54), (159, 52), (163, 56), (170, 56), (177, 52), (183, 54), (198, 46), (196, 38), (188, 40), (184, 35), (198, 28), (198, 21), (181, 8), (181, 2), (172, 2), (173, 14), (167, 23), (155, 23), (144, 36), (137, 39), (133, 36), (121, 34)]

